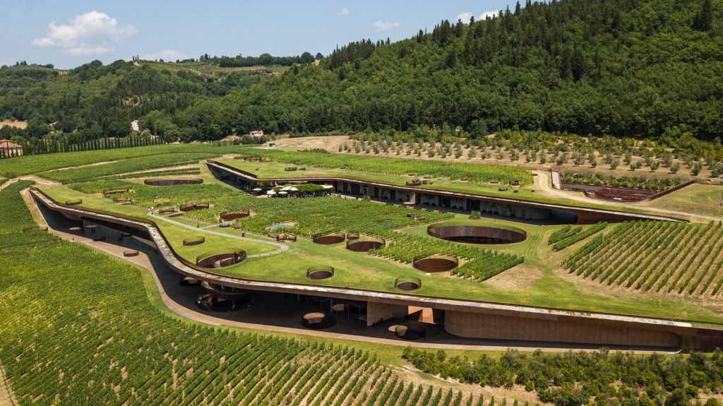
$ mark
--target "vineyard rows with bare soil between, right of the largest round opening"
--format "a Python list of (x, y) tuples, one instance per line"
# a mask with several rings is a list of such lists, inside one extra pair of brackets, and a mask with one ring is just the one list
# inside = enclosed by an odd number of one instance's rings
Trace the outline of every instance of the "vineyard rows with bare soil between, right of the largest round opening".
[(570, 273), (624, 288), (718, 295), (723, 223), (630, 222), (596, 236), (565, 259)]

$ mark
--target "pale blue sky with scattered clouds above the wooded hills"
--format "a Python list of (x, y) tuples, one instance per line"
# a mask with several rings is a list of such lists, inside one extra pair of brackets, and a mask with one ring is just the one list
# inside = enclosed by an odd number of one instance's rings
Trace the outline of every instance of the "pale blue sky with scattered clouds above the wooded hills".
[[(521, 1), (523, 3), (523, 1)], [(361, 38), (411, 37), (443, 19), (479, 18), (515, 1), (0, 0), (0, 65), (72, 68), (94, 59), (325, 55)]]

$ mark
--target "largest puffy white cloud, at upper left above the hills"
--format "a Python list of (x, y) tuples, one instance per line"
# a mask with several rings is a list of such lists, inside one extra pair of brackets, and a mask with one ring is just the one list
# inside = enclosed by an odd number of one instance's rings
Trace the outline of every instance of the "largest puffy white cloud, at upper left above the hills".
[(111, 53), (116, 50), (114, 43), (137, 32), (136, 27), (119, 25), (108, 14), (95, 11), (80, 14), (68, 22), (67, 25), (48, 24), (48, 35), (35, 38), (33, 46), (57, 46), (71, 55)]

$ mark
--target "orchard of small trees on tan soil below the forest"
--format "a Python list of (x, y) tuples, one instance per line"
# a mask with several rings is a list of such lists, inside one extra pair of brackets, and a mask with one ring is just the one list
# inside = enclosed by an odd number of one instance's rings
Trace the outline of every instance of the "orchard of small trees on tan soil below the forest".
[[(326, 147), (329, 152), (354, 156), (410, 157), (510, 165), (529, 169), (552, 168), (578, 176), (646, 177), (656, 181), (676, 178), (721, 181), (723, 163), (719, 152), (695, 147), (669, 148), (651, 140), (580, 137), (547, 131), (502, 130), (487, 137), (470, 139), (460, 134), (414, 134), (413, 131), (382, 131), (333, 137), (341, 140)], [(435, 134), (436, 133), (436, 134)], [(442, 142), (436, 140), (444, 139)], [(435, 139), (429, 142), (429, 139)], [(290, 139), (279, 146), (304, 145), (304, 139)], [(719, 148), (719, 147), (718, 147)], [(717, 155), (717, 157), (716, 157)], [(628, 187), (646, 189), (649, 181)]]

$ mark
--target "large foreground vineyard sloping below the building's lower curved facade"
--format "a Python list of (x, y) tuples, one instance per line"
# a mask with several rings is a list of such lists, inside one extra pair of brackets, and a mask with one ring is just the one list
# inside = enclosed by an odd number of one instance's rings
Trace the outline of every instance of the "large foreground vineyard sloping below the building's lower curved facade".
[[(158, 311), (140, 271), (0, 217), (0, 362), (22, 405), (450, 405), (469, 394), (403, 381), (375, 355), (202, 327)], [(25, 233), (22, 230), (26, 230)]]

